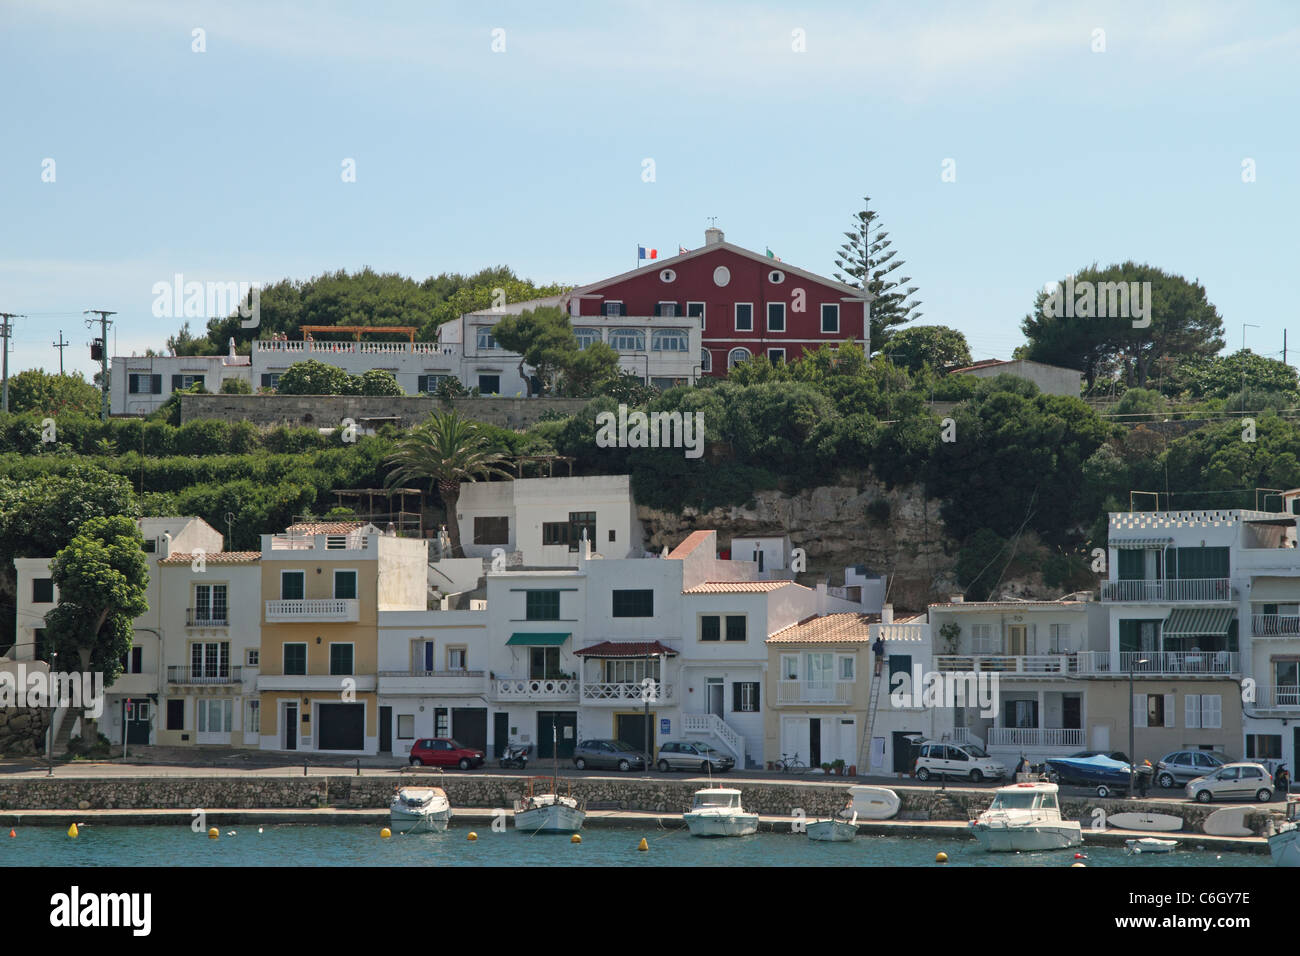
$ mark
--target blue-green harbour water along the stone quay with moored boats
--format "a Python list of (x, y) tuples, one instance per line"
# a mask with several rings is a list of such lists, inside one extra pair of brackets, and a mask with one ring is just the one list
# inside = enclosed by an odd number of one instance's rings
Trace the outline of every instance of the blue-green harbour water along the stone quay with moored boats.
[[(469, 830), (477, 842), (465, 839)], [(684, 829), (592, 829), (582, 843), (564, 835), (456, 825), (443, 834), (394, 834), (378, 826), (237, 826), (217, 840), (185, 826), (86, 826), (75, 839), (58, 827), (23, 827), (0, 835), (0, 866), (1069, 866), (1075, 851), (985, 853), (972, 840), (859, 836), (812, 843), (803, 835), (755, 834), (705, 840)], [(647, 852), (637, 851), (645, 836)], [(1176, 838), (1176, 835), (1175, 835)], [(1196, 851), (1195, 838), (1167, 855), (1126, 855), (1084, 847), (1088, 866), (1268, 866), (1268, 855)]]

